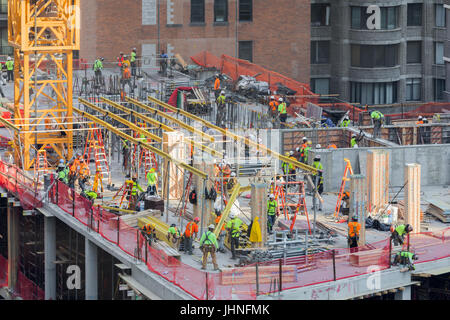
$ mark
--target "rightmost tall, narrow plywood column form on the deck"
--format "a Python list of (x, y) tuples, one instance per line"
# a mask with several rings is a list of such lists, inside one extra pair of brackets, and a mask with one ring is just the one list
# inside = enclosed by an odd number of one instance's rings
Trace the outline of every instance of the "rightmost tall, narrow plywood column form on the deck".
[(420, 232), (420, 171), (420, 164), (405, 165), (405, 223), (413, 232)]

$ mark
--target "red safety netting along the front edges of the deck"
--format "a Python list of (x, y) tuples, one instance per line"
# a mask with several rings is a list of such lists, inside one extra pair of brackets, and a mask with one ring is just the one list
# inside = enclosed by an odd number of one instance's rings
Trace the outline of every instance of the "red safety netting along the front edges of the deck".
[[(10, 167), (0, 161), (0, 170), (9, 172)], [(11, 173), (18, 174), (18, 170)], [(0, 178), (0, 185), (6, 185), (13, 193), (21, 189), (14, 179), (11, 183), (5, 181), (5, 176), (4, 172), (0, 175), (3, 177)], [(130, 256), (143, 261), (151, 272), (199, 300), (255, 299), (257, 295), (279, 291), (280, 283), (281, 290), (289, 290), (370, 274), (390, 267), (391, 248), (389, 239), (386, 239), (358, 248), (357, 254), (346, 248), (334, 249), (209, 273), (148, 245), (137, 228), (124, 223), (119, 216), (93, 206), (91, 201), (62, 182), (57, 181), (53, 185), (49, 191), (49, 200)], [(409, 237), (409, 244), (410, 250), (419, 256), (416, 264), (447, 258), (450, 256), (450, 228), (437, 233), (413, 234)], [(407, 248), (406, 244), (404, 248)], [(360, 255), (362, 257), (359, 258)]]

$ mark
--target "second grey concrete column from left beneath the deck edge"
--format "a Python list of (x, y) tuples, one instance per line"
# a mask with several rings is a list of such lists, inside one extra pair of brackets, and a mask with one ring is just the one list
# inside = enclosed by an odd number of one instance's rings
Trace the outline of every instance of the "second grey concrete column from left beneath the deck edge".
[(45, 300), (56, 300), (56, 218), (44, 218)]

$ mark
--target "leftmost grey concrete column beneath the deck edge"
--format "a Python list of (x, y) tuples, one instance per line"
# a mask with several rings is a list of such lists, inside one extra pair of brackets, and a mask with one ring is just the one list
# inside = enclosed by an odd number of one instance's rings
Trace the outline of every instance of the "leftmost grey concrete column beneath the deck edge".
[(15, 290), (19, 260), (19, 213), (13, 207), (14, 199), (8, 198), (8, 288)]

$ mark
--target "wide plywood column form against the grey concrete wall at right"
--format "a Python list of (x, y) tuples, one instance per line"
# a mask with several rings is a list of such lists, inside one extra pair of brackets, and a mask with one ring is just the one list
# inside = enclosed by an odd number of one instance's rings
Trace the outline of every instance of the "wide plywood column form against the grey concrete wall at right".
[(389, 153), (367, 151), (366, 167), (368, 210), (377, 212), (389, 201)]

